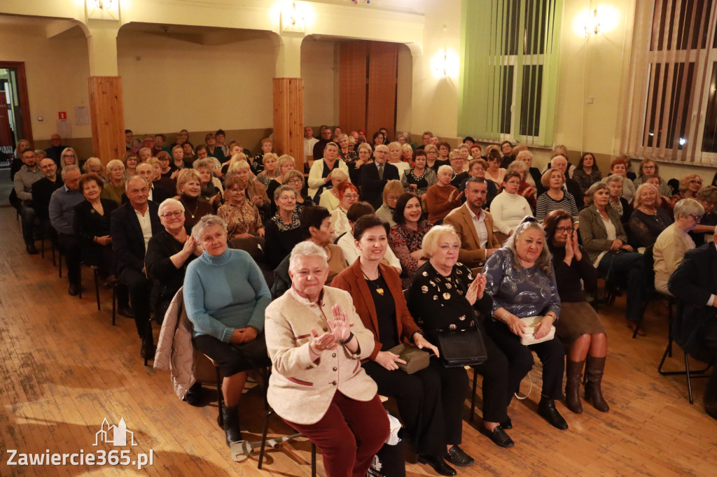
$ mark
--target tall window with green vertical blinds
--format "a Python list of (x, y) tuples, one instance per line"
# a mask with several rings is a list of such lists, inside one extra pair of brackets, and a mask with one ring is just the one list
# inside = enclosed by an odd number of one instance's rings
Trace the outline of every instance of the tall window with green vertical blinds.
[(460, 135), (551, 145), (561, 11), (562, 0), (463, 1)]

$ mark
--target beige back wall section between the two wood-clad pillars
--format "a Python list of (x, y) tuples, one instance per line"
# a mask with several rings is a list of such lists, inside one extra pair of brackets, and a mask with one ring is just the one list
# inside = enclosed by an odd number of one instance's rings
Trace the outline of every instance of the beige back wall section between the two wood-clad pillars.
[(125, 125), (136, 133), (272, 126), (268, 34), (205, 46), (120, 30), (117, 42)]

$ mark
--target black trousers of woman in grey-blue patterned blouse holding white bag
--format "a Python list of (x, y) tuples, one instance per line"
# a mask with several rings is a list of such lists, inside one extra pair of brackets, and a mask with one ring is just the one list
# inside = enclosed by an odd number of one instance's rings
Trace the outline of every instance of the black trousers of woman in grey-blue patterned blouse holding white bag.
[(533, 351), (543, 363), (543, 395), (551, 399), (562, 399), (565, 350), (559, 339), (524, 346), (520, 337), (513, 334), (504, 323), (486, 320), (485, 329), (508, 358), (508, 404), (511, 403), (513, 394), (521, 387), (523, 377), (533, 369)]

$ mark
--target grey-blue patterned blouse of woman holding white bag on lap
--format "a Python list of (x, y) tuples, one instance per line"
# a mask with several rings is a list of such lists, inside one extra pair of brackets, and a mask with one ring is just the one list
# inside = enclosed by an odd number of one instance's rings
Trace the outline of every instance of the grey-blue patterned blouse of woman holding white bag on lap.
[(550, 267), (551, 274), (546, 275), (537, 265), (525, 269), (513, 264), (513, 252), (505, 247), (490, 254), (483, 273), (487, 279), (485, 293), (493, 297), (493, 313), (505, 308), (518, 318), (543, 316), (547, 312), (559, 317), (560, 297), (553, 265)]

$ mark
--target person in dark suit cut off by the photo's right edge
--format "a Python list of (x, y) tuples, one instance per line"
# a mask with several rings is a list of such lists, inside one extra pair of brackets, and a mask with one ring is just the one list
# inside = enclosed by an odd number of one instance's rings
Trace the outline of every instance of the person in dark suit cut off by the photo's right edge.
[[(668, 290), (682, 305), (673, 323), (675, 342), (685, 352), (712, 365), (717, 363), (716, 271), (717, 246), (704, 244), (685, 254), (668, 281)], [(709, 377), (704, 402), (708, 415), (717, 419), (717, 372)]]

